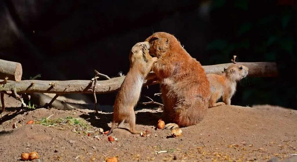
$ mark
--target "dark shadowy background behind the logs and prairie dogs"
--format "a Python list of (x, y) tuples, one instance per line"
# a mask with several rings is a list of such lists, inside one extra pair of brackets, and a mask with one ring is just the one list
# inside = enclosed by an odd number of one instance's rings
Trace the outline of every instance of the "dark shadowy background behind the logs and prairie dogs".
[[(131, 47), (154, 32), (176, 36), (202, 65), (277, 62), (280, 76), (247, 78), (233, 105), (297, 109), (294, 0), (98, 1), (0, 0), (0, 59), (20, 62), (23, 80), (89, 80), (129, 68)], [(2, 78), (1, 78), (2, 79)], [(143, 88), (153, 97), (159, 86)], [(98, 94), (113, 105), (116, 93)], [(93, 102), (91, 94), (67, 97)], [(142, 106), (142, 105), (141, 105)]]

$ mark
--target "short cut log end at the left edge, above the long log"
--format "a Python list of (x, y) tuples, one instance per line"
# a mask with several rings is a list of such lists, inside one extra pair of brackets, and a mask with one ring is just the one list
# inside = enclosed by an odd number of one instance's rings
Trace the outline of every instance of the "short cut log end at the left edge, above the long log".
[(0, 79), (8, 77), (10, 81), (21, 81), (22, 75), (23, 69), (20, 63), (0, 59)]

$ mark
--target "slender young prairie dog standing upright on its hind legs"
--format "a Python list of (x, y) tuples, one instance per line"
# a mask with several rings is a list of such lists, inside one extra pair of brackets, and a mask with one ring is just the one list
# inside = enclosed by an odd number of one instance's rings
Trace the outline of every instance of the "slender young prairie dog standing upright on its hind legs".
[(122, 127), (125, 121), (129, 123), (132, 134), (140, 133), (135, 129), (134, 107), (139, 100), (143, 82), (154, 62), (157, 61), (157, 57), (149, 55), (149, 42), (139, 42), (132, 47), (129, 61), (130, 68), (116, 96), (113, 123), (107, 135), (112, 133), (116, 123), (119, 123), (118, 127)]

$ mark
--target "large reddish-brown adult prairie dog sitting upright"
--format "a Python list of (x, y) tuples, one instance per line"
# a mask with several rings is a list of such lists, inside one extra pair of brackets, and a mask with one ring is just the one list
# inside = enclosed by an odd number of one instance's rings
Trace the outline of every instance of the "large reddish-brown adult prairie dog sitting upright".
[[(150, 54), (158, 58), (153, 66), (160, 81), (165, 129), (199, 123), (206, 114), (210, 85), (200, 62), (192, 58), (171, 34), (158, 32), (146, 41)], [(171, 122), (171, 123), (169, 123)]]

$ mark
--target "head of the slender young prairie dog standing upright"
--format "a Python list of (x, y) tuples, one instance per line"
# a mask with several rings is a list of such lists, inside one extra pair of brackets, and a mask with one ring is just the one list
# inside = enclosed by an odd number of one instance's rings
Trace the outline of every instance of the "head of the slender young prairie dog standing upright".
[(136, 43), (129, 54), (129, 60), (130, 60), (130, 64), (132, 64), (135, 60), (138, 59), (145, 59), (145, 57), (143, 57), (143, 55), (145, 54), (149, 54), (149, 42), (145, 41), (145, 42), (138, 42)]

